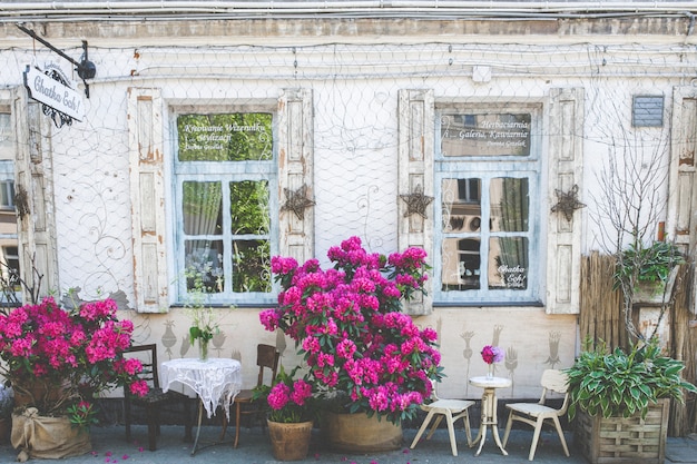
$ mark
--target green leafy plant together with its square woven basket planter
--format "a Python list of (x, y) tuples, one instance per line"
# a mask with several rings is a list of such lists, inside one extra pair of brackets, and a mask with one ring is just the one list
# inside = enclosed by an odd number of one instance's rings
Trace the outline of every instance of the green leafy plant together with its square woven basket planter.
[(683, 402), (685, 391), (697, 393), (680, 376), (685, 365), (664, 356), (656, 339), (628, 352), (589, 346), (587, 340), (566, 369), (569, 419), (577, 419), (576, 442), (583, 455), (591, 464), (662, 463), (669, 399)]

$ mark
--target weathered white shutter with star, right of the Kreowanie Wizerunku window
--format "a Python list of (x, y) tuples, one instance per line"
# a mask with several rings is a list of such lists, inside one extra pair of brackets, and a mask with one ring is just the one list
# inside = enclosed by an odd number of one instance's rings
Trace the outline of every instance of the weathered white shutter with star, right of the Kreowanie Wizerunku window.
[[(281, 256), (298, 263), (314, 256), (313, 98), (310, 89), (284, 89), (278, 99), (278, 201)], [(304, 189), (306, 207), (287, 208)]]

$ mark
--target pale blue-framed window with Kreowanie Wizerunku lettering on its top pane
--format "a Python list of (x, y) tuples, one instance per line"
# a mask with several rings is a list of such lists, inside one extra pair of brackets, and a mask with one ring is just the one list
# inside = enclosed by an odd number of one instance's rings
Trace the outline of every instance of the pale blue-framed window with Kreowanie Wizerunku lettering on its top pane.
[(273, 110), (175, 118), (177, 298), (203, 290), (210, 303), (271, 302), (278, 230)]

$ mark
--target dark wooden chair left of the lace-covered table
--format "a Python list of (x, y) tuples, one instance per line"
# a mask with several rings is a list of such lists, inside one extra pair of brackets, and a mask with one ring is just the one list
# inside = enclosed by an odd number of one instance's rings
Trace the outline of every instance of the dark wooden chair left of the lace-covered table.
[(156, 450), (157, 435), (160, 432), (159, 411), (167, 406), (177, 406), (184, 414), (185, 436), (184, 440), (192, 441), (192, 414), (190, 399), (187, 395), (168, 391), (163, 392), (159, 386), (157, 375), (157, 345), (132, 346), (124, 352), (125, 357), (136, 357), (143, 363), (140, 379), (148, 383), (150, 391), (145, 396), (132, 395), (127, 386), (124, 387), (124, 417), (126, 422), (126, 440), (130, 441), (131, 407), (138, 406), (145, 409), (148, 425), (148, 446), (150, 451)]

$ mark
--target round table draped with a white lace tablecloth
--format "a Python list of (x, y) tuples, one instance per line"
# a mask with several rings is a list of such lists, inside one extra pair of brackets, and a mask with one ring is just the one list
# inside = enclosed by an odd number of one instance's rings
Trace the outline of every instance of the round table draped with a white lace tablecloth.
[(219, 357), (206, 361), (180, 358), (164, 362), (160, 372), (165, 392), (171, 387), (171, 384), (178, 382), (190, 387), (199, 398), (198, 426), (192, 448), (193, 456), (198, 447), (204, 408), (210, 417), (215, 415), (216, 407), (222, 405), (229, 421), (229, 405), (242, 389), (242, 364), (237, 359)]

